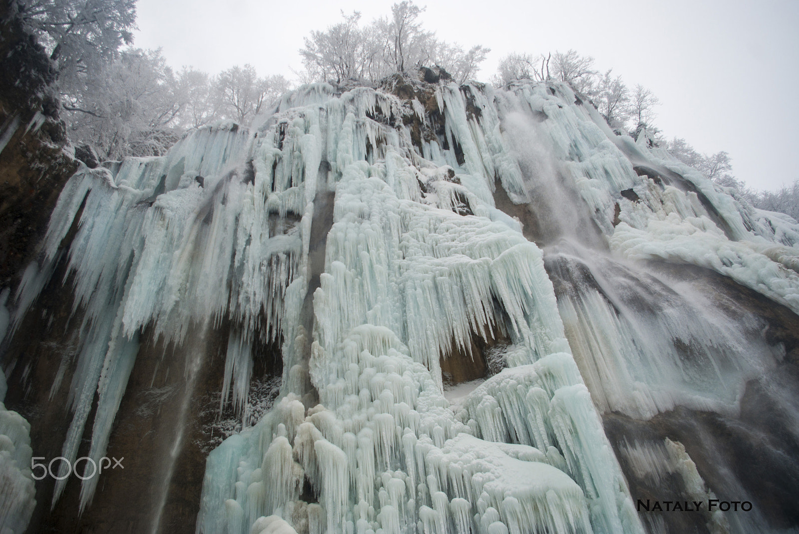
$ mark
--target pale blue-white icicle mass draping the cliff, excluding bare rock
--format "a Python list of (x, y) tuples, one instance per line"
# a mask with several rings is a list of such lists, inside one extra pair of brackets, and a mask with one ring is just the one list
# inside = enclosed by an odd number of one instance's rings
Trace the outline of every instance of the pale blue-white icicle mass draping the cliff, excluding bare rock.
[[(251, 129), (72, 177), (9, 323), (77, 223), (62, 456), (77, 456), (95, 391), (89, 456), (104, 456), (145, 328), (180, 345), (228, 319), (222, 402), (245, 409), (256, 339), (282, 344), (283, 380), (272, 410), (210, 453), (197, 532), (643, 532), (601, 413), (735, 412), (781, 353), (640, 261), (714, 269), (799, 312), (799, 227), (610, 132), (563, 84), (425, 90), (304, 86)], [(548, 210), (541, 247), (500, 188)], [(451, 406), (441, 358), (499, 337), (507, 369)]]

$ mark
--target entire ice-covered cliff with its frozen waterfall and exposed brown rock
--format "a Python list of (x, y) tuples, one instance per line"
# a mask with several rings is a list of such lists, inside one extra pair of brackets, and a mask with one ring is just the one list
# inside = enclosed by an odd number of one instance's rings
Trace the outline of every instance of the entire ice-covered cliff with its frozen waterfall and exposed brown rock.
[(677, 532), (635, 501), (720, 495), (754, 509), (690, 527), (790, 528), (797, 243), (562, 84), (304, 86), (66, 185), (4, 361), (14, 403), (63, 399), (34, 451), (129, 471), (34, 520)]

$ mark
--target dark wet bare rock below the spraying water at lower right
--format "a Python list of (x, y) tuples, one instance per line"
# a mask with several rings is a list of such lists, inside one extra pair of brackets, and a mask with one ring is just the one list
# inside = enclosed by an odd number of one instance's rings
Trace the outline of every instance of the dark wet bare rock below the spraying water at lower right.
[[(668, 439), (685, 447), (715, 498), (749, 500), (753, 504), (751, 512), (725, 514), (733, 532), (753, 532), (752, 528), (765, 526), (797, 528), (799, 442), (793, 405), (799, 395), (799, 317), (785, 306), (710, 270), (660, 262), (651, 266), (715, 293), (719, 306), (734, 302), (761, 317), (767, 325), (763, 331), (765, 341), (784, 345), (785, 359), (769, 373), (746, 383), (737, 416), (682, 406), (658, 413), (650, 420), (635, 420), (614, 412), (603, 414), (606, 434), (633, 500), (690, 500), (690, 481), (675, 472), (664, 476), (642, 474), (623, 450), (630, 444), (658, 448)], [(666, 532), (711, 532), (713, 528), (706, 513), (639, 513), (653, 532), (657, 532), (655, 527), (661, 522)]]

